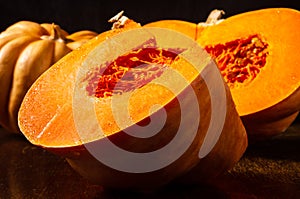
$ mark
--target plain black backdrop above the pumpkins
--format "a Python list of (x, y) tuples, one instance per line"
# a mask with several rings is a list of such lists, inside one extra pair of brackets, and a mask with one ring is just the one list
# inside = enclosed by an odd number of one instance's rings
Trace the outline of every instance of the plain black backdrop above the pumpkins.
[[(102, 32), (110, 28), (107, 20), (121, 10), (145, 24), (159, 19), (205, 21), (214, 9), (225, 17), (260, 8), (289, 7), (300, 10), (298, 0), (1, 0), (0, 31), (20, 20), (56, 23), (68, 32), (82, 29)], [(279, 24), (280, 26), (280, 24)]]

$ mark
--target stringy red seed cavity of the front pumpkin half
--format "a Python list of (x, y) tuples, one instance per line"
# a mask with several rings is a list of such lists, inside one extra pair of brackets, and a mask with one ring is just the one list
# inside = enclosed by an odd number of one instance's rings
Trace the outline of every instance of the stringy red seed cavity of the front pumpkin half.
[(86, 91), (89, 96), (106, 98), (141, 88), (160, 77), (181, 52), (158, 47), (134, 49), (89, 72)]

